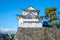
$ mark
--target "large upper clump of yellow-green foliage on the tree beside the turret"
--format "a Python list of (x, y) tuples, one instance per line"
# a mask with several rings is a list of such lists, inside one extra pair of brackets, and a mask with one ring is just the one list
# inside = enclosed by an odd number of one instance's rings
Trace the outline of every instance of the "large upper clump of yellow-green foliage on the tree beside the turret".
[(46, 13), (46, 17), (50, 18), (51, 20), (56, 18), (56, 8), (55, 7), (46, 8), (45, 13)]

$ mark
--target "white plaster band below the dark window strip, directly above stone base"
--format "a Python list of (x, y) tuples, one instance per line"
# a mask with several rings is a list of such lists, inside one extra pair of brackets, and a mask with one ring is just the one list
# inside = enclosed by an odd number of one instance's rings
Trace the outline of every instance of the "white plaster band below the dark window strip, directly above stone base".
[(22, 23), (22, 24), (19, 24), (19, 27), (39, 28), (39, 27), (42, 27), (42, 23)]

